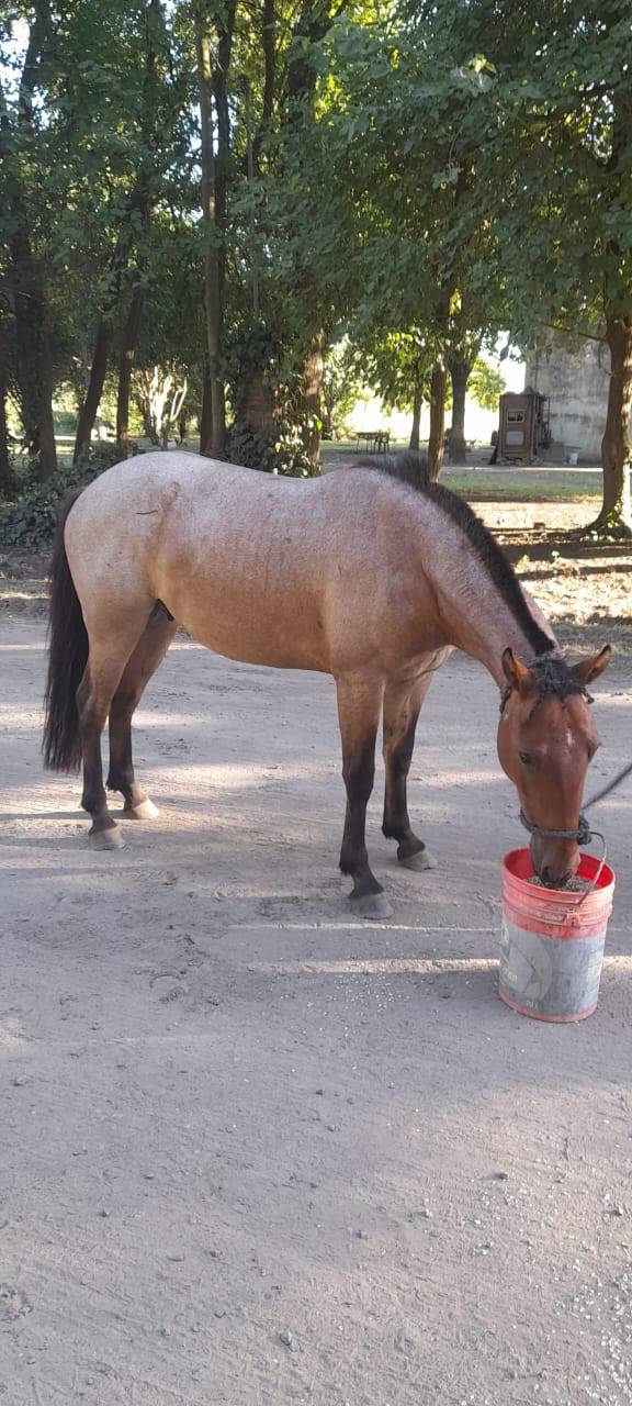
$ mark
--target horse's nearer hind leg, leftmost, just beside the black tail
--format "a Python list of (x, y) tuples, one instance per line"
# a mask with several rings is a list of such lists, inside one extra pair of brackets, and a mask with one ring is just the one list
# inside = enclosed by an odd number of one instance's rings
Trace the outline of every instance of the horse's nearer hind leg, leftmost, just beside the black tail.
[(88, 628), (88, 662), (77, 689), (79, 734), (83, 756), (81, 806), (91, 818), (90, 841), (94, 849), (121, 849), (121, 831), (108, 811), (103, 785), (101, 733), (125, 665), (143, 631), (145, 619), (117, 621), (117, 628)]

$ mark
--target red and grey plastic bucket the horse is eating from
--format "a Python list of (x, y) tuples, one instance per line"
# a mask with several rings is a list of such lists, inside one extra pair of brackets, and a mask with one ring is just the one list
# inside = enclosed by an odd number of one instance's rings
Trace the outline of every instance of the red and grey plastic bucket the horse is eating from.
[[(528, 849), (503, 859), (499, 995), (535, 1021), (583, 1021), (597, 1007), (615, 877), (581, 855), (577, 876), (594, 889), (539, 889)], [(595, 882), (597, 880), (597, 882)]]

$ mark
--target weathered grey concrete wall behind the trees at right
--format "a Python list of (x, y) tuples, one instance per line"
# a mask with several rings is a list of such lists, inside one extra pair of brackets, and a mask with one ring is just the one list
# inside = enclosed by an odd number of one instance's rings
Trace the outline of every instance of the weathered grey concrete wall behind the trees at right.
[(566, 449), (579, 449), (597, 463), (608, 404), (610, 350), (583, 342), (579, 352), (551, 342), (529, 356), (525, 387), (551, 396), (551, 433)]

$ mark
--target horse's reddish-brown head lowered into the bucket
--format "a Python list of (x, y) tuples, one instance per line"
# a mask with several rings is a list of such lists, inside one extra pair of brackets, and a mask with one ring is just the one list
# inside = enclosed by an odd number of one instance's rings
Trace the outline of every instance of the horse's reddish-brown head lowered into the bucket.
[[(531, 858), (536, 875), (553, 889), (573, 877), (579, 863), (577, 831), (588, 763), (598, 741), (587, 685), (608, 665), (610, 645), (574, 668), (555, 654), (522, 664), (503, 654), (507, 686), (499, 725), (503, 770), (518, 790), (522, 814), (535, 827)], [(570, 831), (553, 838), (542, 831)]]

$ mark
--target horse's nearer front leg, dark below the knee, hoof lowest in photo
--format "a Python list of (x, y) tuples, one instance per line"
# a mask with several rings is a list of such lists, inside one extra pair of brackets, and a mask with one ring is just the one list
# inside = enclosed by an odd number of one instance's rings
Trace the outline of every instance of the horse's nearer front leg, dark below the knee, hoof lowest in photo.
[(379, 679), (337, 679), (343, 778), (347, 787), (340, 868), (354, 882), (351, 903), (364, 917), (385, 917), (382, 884), (371, 872), (365, 844), (367, 804), (374, 789), (375, 738), (383, 685)]

